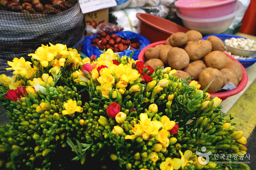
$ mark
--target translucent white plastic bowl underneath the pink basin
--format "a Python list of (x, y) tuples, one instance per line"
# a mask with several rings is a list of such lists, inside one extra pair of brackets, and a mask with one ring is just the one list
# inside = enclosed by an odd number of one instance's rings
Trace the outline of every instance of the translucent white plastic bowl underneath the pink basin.
[(200, 18), (190, 18), (188, 16), (182, 15), (179, 10), (177, 10), (177, 15), (182, 19), (184, 26), (190, 30), (196, 30), (201, 32), (203, 35), (208, 34), (219, 34), (227, 30), (231, 23), (233, 22), (235, 15), (241, 12), (243, 9), (243, 4), (240, 1), (237, 1), (235, 10), (233, 13), (218, 17), (218, 18), (209, 18), (209, 19), (200, 19)]

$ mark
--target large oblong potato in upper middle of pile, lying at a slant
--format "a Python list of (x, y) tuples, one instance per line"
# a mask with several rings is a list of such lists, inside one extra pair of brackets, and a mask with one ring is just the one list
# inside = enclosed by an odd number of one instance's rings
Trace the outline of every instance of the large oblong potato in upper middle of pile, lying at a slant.
[(190, 60), (198, 60), (212, 51), (212, 45), (208, 40), (197, 40), (188, 46), (185, 51), (188, 53)]

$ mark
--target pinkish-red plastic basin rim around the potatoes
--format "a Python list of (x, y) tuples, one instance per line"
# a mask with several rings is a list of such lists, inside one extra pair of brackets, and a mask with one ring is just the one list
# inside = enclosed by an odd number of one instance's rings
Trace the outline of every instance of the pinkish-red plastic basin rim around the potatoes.
[[(165, 40), (164, 41), (159, 41), (159, 42), (154, 42), (154, 43), (144, 47), (140, 51), (140, 54), (138, 55), (138, 60), (145, 63), (146, 62), (146, 58), (145, 58), (146, 49), (148, 49), (149, 47), (155, 47), (156, 45), (160, 45), (160, 44), (165, 44)], [(225, 100), (226, 98), (228, 98), (230, 96), (234, 96), (235, 94), (241, 92), (245, 88), (245, 86), (248, 82), (248, 74), (247, 74), (244, 66), (239, 61), (237, 61), (237, 59), (232, 57), (231, 55), (229, 55), (229, 54), (226, 54), (226, 55), (227, 55), (227, 57), (231, 58), (232, 60), (238, 62), (241, 65), (242, 70), (243, 70), (243, 78), (242, 78), (241, 82), (238, 84), (237, 88), (235, 88), (233, 90), (229, 90), (229, 91), (226, 91), (226, 92), (220, 92), (220, 93), (209, 93), (211, 95), (211, 97), (216, 96), (216, 97), (219, 97), (222, 100)]]

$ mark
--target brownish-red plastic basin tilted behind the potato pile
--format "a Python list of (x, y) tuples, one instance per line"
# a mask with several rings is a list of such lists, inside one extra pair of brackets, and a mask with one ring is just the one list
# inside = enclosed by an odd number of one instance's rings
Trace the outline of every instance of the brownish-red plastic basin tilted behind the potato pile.
[(166, 40), (176, 32), (187, 32), (187, 28), (182, 27), (170, 20), (148, 13), (137, 13), (138, 34), (145, 36), (151, 43)]

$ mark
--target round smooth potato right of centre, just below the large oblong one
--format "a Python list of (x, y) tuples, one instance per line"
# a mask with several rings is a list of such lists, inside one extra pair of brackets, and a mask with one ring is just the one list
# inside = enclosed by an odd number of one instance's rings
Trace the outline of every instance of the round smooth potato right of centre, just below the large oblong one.
[(220, 70), (226, 65), (226, 54), (221, 51), (212, 51), (211, 53), (205, 55), (204, 62), (207, 67)]

